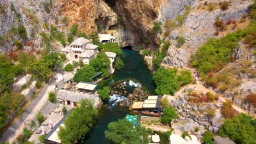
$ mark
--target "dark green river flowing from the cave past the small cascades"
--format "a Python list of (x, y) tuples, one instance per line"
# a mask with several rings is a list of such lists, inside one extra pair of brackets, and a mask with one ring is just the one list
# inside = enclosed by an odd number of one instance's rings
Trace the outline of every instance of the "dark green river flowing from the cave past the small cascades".
[[(110, 86), (115, 83), (127, 81), (126, 89), (128, 93), (132, 93), (133, 89), (142, 86), (144, 91), (149, 94), (155, 94), (152, 81), (153, 74), (148, 70), (147, 65), (141, 55), (137, 51), (131, 50), (131, 47), (124, 47), (123, 55), (120, 57), (124, 62), (124, 68), (116, 70), (107, 80), (100, 83), (100, 87)], [(111, 143), (106, 139), (104, 131), (107, 130), (110, 122), (118, 121), (124, 118), (129, 110), (127, 107), (118, 105), (120, 100), (127, 99), (124, 95), (113, 94), (108, 103), (100, 109), (100, 117), (97, 123), (92, 127), (91, 131), (85, 137), (84, 143)]]

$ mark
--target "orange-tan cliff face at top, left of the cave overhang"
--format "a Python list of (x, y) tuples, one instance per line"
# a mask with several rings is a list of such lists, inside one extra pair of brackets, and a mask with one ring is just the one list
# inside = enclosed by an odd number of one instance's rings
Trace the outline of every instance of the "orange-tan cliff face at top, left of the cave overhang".
[(69, 20), (68, 28), (73, 23), (79, 23), (81, 31), (90, 33), (97, 30), (97, 26), (108, 29), (117, 25), (117, 14), (103, 1), (100, 0), (62, 0), (60, 14)]

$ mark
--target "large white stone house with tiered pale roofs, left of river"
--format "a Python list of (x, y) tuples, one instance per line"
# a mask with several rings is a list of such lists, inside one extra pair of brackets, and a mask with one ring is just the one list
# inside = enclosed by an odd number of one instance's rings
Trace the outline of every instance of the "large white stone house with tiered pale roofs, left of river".
[(69, 61), (82, 59), (85, 64), (89, 64), (89, 61), (97, 57), (98, 53), (98, 46), (89, 44), (89, 42), (88, 39), (78, 38), (69, 46), (61, 49), (61, 53), (65, 53)]

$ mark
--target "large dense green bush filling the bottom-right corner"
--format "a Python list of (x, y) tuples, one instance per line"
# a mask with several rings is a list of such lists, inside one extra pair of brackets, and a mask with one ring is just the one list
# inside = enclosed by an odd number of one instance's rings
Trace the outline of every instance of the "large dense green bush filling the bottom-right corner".
[(240, 113), (234, 118), (226, 119), (225, 123), (219, 130), (222, 137), (230, 137), (236, 143), (251, 144), (255, 140), (256, 119)]

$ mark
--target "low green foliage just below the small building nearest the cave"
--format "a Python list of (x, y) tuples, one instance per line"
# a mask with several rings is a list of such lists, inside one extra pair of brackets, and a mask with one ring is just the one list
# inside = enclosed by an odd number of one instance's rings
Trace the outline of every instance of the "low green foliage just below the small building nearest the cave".
[(107, 44), (100, 44), (102, 49), (102, 52), (114, 52), (117, 53), (117, 55), (122, 55), (123, 51), (120, 49), (119, 45), (117, 43), (107, 43)]

